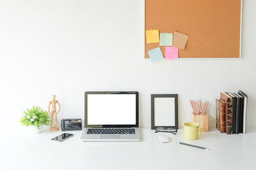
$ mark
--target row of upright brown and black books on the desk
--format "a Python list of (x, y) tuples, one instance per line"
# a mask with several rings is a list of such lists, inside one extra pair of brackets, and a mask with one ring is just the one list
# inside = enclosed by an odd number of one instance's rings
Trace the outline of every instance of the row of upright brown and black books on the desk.
[(216, 127), (221, 133), (246, 133), (247, 95), (238, 93), (220, 93), (216, 99)]

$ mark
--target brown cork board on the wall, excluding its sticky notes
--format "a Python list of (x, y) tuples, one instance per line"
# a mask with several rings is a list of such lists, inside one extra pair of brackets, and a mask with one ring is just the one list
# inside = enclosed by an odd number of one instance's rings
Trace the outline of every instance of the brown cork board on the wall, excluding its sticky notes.
[[(179, 58), (241, 58), (242, 4), (243, 0), (145, 0), (145, 32), (188, 35)], [(145, 36), (145, 58), (158, 46), (147, 44)], [(164, 46), (160, 48), (165, 55)]]

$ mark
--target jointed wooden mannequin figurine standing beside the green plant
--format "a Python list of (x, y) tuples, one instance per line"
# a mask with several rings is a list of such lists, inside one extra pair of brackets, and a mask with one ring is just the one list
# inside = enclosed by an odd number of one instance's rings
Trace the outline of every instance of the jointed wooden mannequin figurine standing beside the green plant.
[[(56, 104), (59, 106), (59, 110), (56, 111)], [(50, 112), (50, 106), (52, 105), (52, 111)], [(52, 101), (49, 102), (48, 112), (51, 113), (51, 131), (59, 131), (57, 127), (57, 114), (60, 112), (60, 103), (55, 100), (55, 94), (52, 96)], [(52, 117), (54, 116), (54, 127), (52, 127)]]

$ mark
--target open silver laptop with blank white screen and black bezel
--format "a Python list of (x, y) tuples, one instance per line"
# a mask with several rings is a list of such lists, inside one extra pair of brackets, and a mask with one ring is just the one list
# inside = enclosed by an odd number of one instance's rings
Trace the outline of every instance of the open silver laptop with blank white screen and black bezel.
[(140, 141), (138, 92), (85, 92), (82, 141)]

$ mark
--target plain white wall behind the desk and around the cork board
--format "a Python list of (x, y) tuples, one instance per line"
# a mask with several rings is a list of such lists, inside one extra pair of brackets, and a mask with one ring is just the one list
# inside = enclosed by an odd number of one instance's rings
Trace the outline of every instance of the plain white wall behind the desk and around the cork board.
[(1, 0), (1, 125), (20, 127), (22, 111), (46, 110), (52, 94), (59, 119), (83, 118), (86, 90), (138, 90), (141, 127), (150, 127), (150, 94), (179, 94), (180, 125), (191, 120), (189, 99), (209, 100), (214, 127), (215, 98), (240, 89), (255, 125), (255, 9), (244, 1), (241, 59), (153, 64), (144, 59), (144, 0)]

